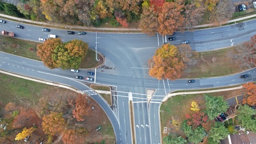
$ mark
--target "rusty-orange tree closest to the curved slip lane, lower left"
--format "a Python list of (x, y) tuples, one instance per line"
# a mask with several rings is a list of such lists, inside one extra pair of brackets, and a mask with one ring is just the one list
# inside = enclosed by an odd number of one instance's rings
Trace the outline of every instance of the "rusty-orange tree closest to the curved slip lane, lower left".
[(78, 94), (76, 98), (76, 107), (73, 109), (73, 117), (77, 119), (78, 122), (84, 121), (82, 116), (89, 115), (91, 108), (86, 105), (86, 96), (85, 94)]

